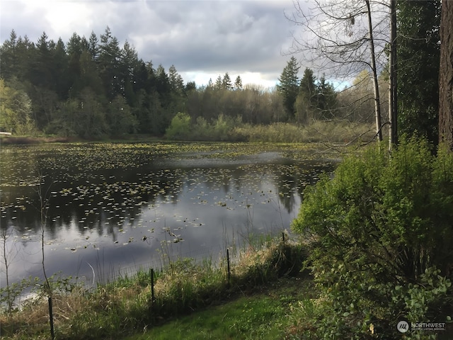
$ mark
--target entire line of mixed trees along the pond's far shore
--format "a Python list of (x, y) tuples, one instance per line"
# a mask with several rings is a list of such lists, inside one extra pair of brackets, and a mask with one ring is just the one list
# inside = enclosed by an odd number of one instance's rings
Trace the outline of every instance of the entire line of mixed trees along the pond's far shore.
[(205, 86), (185, 83), (174, 65), (166, 71), (139, 59), (129, 42), (120, 47), (108, 27), (88, 39), (74, 33), (66, 43), (45, 33), (31, 42), (13, 30), (0, 49), (0, 128), (17, 135), (162, 136), (178, 113), (198, 130), (225, 122), (231, 128), (368, 116), (342, 109), (351, 96), (338, 96), (311, 69), (299, 81), (294, 58), (276, 89), (265, 90), (243, 86), (240, 76), (232, 81), (228, 73)]

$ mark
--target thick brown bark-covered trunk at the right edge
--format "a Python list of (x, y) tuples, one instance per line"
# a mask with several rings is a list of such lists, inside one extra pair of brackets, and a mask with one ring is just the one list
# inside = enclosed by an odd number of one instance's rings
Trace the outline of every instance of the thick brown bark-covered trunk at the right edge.
[(453, 1), (442, 0), (440, 21), (439, 141), (453, 150)]

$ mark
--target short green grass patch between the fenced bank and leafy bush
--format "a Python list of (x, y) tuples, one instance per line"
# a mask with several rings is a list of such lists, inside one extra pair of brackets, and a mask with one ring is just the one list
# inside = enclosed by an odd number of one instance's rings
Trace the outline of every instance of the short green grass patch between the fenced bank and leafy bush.
[(144, 329), (127, 340), (288, 339), (291, 306), (316, 295), (309, 278), (282, 278), (234, 300)]

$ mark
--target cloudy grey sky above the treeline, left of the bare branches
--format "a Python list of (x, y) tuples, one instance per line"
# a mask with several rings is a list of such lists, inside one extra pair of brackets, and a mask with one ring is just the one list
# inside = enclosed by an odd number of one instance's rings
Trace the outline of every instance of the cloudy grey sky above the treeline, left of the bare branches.
[(66, 43), (108, 26), (121, 47), (127, 40), (154, 67), (173, 64), (185, 82), (202, 86), (228, 72), (267, 89), (290, 58), (297, 27), (285, 13), (293, 12), (292, 0), (0, 0), (0, 41), (15, 30)]

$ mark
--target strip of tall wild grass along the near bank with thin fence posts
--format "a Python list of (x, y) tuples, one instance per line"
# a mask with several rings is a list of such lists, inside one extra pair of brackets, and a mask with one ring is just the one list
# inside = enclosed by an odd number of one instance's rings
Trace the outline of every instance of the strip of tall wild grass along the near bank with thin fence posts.
[[(134, 278), (102, 285), (94, 291), (71, 287), (70, 293), (52, 294), (57, 339), (118, 339), (137, 329), (150, 329), (164, 320), (268, 283), (285, 274), (299, 272), (304, 251), (288, 241), (249, 245), (231, 263), (228, 280), (226, 261), (196, 263), (181, 259), (156, 274), (154, 301), (148, 272)], [(64, 281), (62, 281), (64, 283)], [(21, 310), (1, 314), (1, 335), (8, 339), (48, 339), (47, 295), (25, 304)]]

